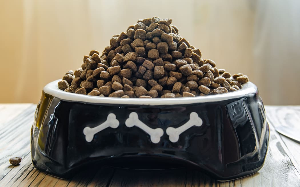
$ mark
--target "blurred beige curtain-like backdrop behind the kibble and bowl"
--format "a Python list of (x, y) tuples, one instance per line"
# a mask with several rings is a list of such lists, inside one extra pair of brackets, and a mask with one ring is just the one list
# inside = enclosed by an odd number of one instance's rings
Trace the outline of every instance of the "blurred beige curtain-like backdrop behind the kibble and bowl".
[(214, 60), (242, 72), (265, 104), (300, 104), (300, 1), (0, 0), (0, 103), (37, 103), (42, 88), (138, 19), (172, 18)]

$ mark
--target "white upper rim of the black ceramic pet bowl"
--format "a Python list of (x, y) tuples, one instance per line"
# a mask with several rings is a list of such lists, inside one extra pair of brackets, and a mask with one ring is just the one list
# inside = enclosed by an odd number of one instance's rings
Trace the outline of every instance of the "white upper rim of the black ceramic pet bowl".
[(95, 104), (130, 104), (130, 105), (180, 105), (180, 104), (193, 104), (193, 103), (208, 103), (215, 101), (225, 101), (229, 99), (240, 98), (242, 96), (250, 95), (257, 92), (255, 84), (248, 82), (243, 84), (243, 88), (226, 94), (185, 97), (185, 98), (111, 98), (99, 97), (91, 95), (75, 94), (65, 92), (58, 88), (58, 81), (55, 80), (48, 83), (43, 91), (46, 94), (68, 101), (78, 101), (84, 103)]

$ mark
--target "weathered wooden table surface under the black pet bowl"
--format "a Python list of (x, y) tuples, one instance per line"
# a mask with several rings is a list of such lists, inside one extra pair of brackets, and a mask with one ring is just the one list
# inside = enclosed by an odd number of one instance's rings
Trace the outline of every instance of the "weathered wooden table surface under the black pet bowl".
[[(103, 166), (69, 180), (46, 175), (31, 162), (30, 128), (35, 109), (35, 104), (0, 104), (0, 186), (300, 186), (300, 144), (274, 129), (299, 122), (300, 106), (265, 107), (270, 139), (264, 167), (228, 182), (186, 168), (151, 171)], [(21, 164), (10, 165), (9, 158), (16, 156), (22, 157)]]

